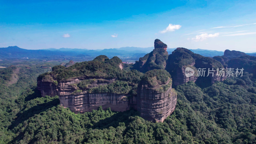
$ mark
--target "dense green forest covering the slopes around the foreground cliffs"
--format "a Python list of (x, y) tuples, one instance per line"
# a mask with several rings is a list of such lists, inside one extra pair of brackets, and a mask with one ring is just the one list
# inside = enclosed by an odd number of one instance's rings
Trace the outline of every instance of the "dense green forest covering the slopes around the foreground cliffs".
[[(152, 123), (132, 109), (115, 112), (99, 107), (75, 114), (59, 105), (58, 96), (41, 97), (36, 77), (46, 69), (12, 66), (0, 71), (0, 143), (256, 143), (252, 74), (229, 77), (206, 88), (193, 82), (179, 85), (174, 88), (178, 94), (174, 112), (163, 123)], [(16, 84), (10, 84), (13, 73), (19, 76)], [(134, 70), (129, 73), (133, 74), (125, 78), (129, 83), (140, 75)], [(131, 89), (122, 81), (113, 85)]]

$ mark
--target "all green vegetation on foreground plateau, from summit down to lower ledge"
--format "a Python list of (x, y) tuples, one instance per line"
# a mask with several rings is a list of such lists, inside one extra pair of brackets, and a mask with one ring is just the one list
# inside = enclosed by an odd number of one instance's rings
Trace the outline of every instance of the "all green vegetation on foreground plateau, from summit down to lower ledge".
[[(57, 65), (52, 67), (52, 72), (41, 74), (38, 80), (54, 82), (77, 76), (88, 76), (93, 79), (81, 81), (79, 84), (74, 84), (76, 91), (72, 94), (79, 94), (83, 91), (89, 93), (116, 93), (116, 94), (136, 94), (138, 83), (143, 76), (143, 73), (138, 70), (130, 70), (119, 66), (122, 65), (122, 60), (118, 57), (108, 59), (105, 55), (100, 55), (92, 61), (76, 63), (68, 68)], [(169, 74), (168, 74), (169, 75)], [(115, 78), (116, 81), (112, 84), (100, 85), (98, 87), (89, 88), (96, 79), (106, 81), (103, 78)]]

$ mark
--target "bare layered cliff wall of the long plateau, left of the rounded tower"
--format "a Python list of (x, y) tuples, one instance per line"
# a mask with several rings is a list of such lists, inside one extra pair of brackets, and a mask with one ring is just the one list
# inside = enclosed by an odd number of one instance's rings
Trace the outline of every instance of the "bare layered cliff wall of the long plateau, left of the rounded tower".
[(76, 77), (58, 84), (60, 105), (69, 108), (75, 113), (97, 110), (99, 106), (103, 109), (111, 108), (114, 111), (125, 111), (129, 109), (127, 95), (116, 93), (89, 93), (88, 91), (75, 92), (83, 80), (92, 80), (85, 90), (113, 83), (116, 78), (103, 79), (94, 77)]

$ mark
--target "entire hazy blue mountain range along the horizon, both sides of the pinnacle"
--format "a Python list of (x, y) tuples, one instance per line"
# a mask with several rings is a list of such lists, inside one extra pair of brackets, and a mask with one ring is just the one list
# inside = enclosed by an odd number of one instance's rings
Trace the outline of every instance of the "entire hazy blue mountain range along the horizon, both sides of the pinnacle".
[[(88, 50), (88, 49), (72, 49), (72, 48), (49, 48), (42, 50), (27, 50), (19, 48), (18, 46), (9, 46), (0, 48), (1, 58), (40, 58), (40, 59), (67, 59), (67, 60), (92, 60), (98, 55), (106, 55), (109, 58), (118, 56), (122, 60), (139, 60), (148, 52), (151, 52), (154, 47), (121, 47), (103, 50)], [(171, 54), (176, 48), (167, 48), (167, 52)], [(192, 50), (206, 57), (221, 56), (224, 52), (196, 49)], [(248, 55), (256, 56), (256, 53), (246, 53)]]

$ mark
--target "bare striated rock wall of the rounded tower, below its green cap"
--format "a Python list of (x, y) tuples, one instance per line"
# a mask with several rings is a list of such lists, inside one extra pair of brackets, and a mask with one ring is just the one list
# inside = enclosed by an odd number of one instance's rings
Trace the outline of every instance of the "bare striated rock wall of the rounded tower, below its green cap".
[[(177, 94), (172, 89), (172, 80), (168, 78), (166, 83), (152, 85), (147, 81), (141, 81), (138, 85), (137, 109), (140, 115), (149, 121), (163, 122), (175, 109)], [(159, 88), (168, 85), (166, 91), (160, 93)]]

